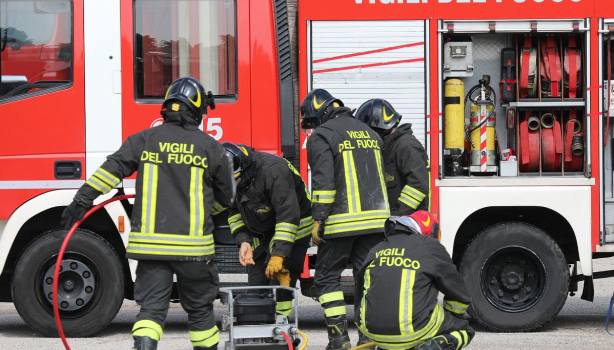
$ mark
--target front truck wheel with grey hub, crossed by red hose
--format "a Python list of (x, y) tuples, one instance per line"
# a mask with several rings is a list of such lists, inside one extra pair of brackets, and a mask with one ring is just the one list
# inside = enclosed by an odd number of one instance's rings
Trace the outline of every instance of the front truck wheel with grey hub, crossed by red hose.
[[(13, 302), (30, 327), (58, 336), (53, 319), (53, 270), (66, 230), (49, 231), (21, 254), (12, 280)], [(60, 270), (58, 302), (66, 336), (99, 332), (117, 315), (124, 296), (122, 263), (100, 236), (77, 230)]]

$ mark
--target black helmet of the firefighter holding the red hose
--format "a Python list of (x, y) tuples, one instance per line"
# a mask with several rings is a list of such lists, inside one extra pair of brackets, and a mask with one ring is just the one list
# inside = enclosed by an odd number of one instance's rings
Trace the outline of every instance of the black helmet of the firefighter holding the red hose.
[(184, 103), (195, 117), (200, 117), (207, 114), (207, 106), (211, 109), (216, 109), (216, 104), (213, 100), (211, 91), (206, 93), (203, 84), (193, 77), (181, 77), (168, 87), (166, 96), (162, 103), (162, 109), (171, 109), (171, 111), (179, 111), (180, 105), (170, 105), (171, 101), (180, 101)]

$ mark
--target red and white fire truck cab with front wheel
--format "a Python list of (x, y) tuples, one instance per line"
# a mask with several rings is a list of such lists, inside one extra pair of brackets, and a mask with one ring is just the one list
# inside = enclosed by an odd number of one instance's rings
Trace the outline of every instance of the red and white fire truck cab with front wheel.
[[(125, 138), (162, 122), (161, 101), (178, 77), (196, 77), (216, 96), (204, 132), (293, 157), (287, 20), (276, 5), (0, 1), (0, 301), (57, 335), (50, 288), (66, 233), (60, 214)], [(134, 176), (96, 203), (122, 192), (134, 193)], [(62, 265), (60, 312), (71, 336), (98, 332), (133, 298), (131, 204), (105, 209), (84, 222)], [(243, 283), (225, 217), (216, 224), (222, 283)]]

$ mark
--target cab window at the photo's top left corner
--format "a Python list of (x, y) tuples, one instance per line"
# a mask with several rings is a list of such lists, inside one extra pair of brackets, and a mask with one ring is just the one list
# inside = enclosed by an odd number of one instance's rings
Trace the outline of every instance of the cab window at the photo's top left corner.
[(72, 83), (72, 2), (0, 2), (0, 103)]

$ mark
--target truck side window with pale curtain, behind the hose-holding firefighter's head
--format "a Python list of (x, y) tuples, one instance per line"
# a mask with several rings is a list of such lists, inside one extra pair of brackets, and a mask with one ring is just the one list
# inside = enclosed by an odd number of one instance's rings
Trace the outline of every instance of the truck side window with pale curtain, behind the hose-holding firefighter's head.
[(135, 0), (134, 66), (138, 99), (163, 99), (184, 76), (236, 98), (236, 0)]

